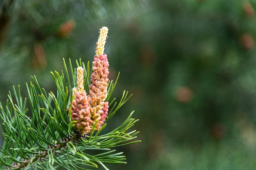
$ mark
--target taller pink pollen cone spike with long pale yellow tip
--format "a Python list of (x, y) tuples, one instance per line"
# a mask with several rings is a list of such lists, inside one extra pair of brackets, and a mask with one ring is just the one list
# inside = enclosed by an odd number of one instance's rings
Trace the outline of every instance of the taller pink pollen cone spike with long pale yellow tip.
[(104, 46), (106, 44), (108, 28), (103, 26), (100, 31), (98, 41), (96, 43), (96, 51), (94, 56), (94, 61), (92, 62), (92, 76), (90, 85), (90, 106), (92, 120), (97, 122), (95, 130), (99, 130), (101, 125), (104, 123), (106, 118), (108, 118), (108, 102), (104, 102), (107, 96), (107, 86), (108, 86), (108, 57), (104, 54)]

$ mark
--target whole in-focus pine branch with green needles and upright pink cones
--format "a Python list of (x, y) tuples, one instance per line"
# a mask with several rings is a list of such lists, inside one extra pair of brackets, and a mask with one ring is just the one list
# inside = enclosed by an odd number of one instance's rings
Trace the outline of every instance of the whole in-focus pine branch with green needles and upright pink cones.
[[(99, 39), (106, 41), (106, 34), (103, 36), (105, 38), (100, 35)], [(101, 45), (99, 49), (103, 48)], [(115, 153), (111, 148), (140, 142), (134, 141), (137, 131), (128, 132), (138, 121), (131, 118), (133, 112), (119, 127), (101, 134), (106, 127), (105, 120), (130, 98), (124, 91), (118, 104), (115, 98), (109, 103), (117, 80), (108, 82), (106, 54), (94, 57), (90, 85), (89, 63), (86, 69), (80, 59), (76, 61), (77, 68), (73, 68), (69, 61), (70, 76), (64, 59), (63, 62), (64, 72), (51, 72), (56, 94), (45, 92), (34, 76), (33, 83), (27, 84), (27, 98), (22, 99), (18, 86), (13, 87), (13, 95), (9, 92), (5, 107), (0, 102), (0, 128), (4, 138), (0, 146), (0, 169), (45, 170), (61, 166), (77, 170), (84, 169), (82, 164), (87, 169), (98, 168), (99, 164), (108, 170), (104, 163), (125, 163), (123, 153)], [(88, 150), (92, 149), (101, 153), (89, 154)]]

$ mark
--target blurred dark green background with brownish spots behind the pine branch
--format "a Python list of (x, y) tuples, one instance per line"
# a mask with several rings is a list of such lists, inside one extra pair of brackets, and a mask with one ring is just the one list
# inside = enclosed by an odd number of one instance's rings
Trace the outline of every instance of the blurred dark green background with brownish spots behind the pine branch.
[[(108, 127), (135, 110), (142, 142), (116, 148), (111, 170), (256, 169), (255, 0), (0, 0), (0, 101), (63, 58), (92, 62), (98, 30), (113, 96), (133, 94)], [(1, 138), (0, 138), (1, 140)], [(102, 169), (102, 168), (99, 168)]]

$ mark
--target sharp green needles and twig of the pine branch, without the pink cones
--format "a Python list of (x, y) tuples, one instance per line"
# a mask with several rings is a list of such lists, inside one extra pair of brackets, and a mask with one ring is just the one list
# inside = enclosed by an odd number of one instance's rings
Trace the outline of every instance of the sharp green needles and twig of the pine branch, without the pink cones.
[[(75, 73), (70, 63), (70, 73), (64, 61), (65, 72), (52, 72), (57, 92), (45, 92), (38, 84), (36, 76), (33, 83), (27, 84), (28, 98), (22, 99), (20, 86), (13, 87), (13, 95), (9, 92), (6, 105), (0, 103), (1, 130), (4, 144), (0, 150), (0, 169), (56, 169), (63, 167), (68, 170), (97, 168), (98, 165), (108, 169), (104, 163), (126, 163), (122, 153), (116, 153), (113, 147), (132, 144), (137, 131), (128, 131), (138, 120), (128, 118), (116, 129), (101, 134), (106, 127), (103, 124), (97, 132), (81, 137), (74, 128), (68, 116), (72, 87), (75, 85)], [(85, 65), (81, 60), (77, 66)], [(85, 69), (86, 70), (86, 69)], [(88, 82), (89, 63), (85, 72), (85, 82)], [(110, 100), (117, 81), (108, 84)], [(86, 87), (86, 86), (85, 86)], [(88, 87), (88, 86), (87, 86)], [(130, 96), (124, 92), (120, 102), (115, 98), (110, 101), (109, 118), (127, 101)], [(14, 96), (14, 97), (13, 97)], [(27, 115), (27, 100), (29, 100), (31, 117)], [(132, 140), (132, 141), (130, 141)], [(99, 154), (90, 155), (90, 150), (100, 150)]]

